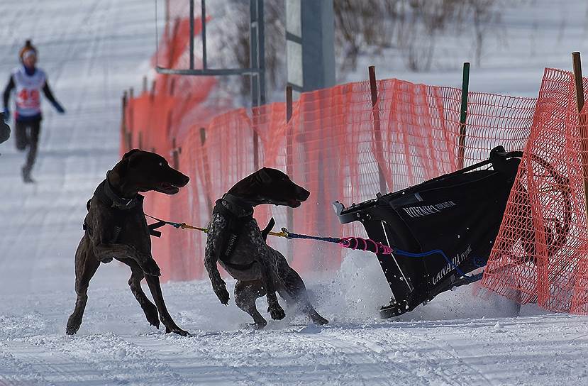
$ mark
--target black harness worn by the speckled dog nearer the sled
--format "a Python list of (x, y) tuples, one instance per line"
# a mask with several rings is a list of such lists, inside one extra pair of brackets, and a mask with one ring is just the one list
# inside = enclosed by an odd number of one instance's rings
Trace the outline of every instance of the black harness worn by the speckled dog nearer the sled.
[[(238, 208), (242, 209), (242, 214), (235, 214), (223, 204), (223, 201), (229, 202), (233, 206), (237, 206)], [(226, 265), (229, 265), (233, 268), (238, 268), (241, 270), (250, 268), (253, 263), (248, 265), (235, 265), (228, 263), (227, 260), (229, 257), (231, 257), (231, 254), (235, 250), (235, 246), (237, 246), (239, 238), (243, 233), (243, 228), (245, 228), (245, 225), (248, 224), (249, 221), (253, 220), (253, 205), (245, 202), (245, 200), (240, 199), (239, 197), (233, 196), (233, 194), (227, 193), (223, 195), (223, 198), (216, 200), (216, 205), (214, 206), (212, 214), (219, 214), (223, 216), (227, 222), (226, 230), (224, 231), (224, 234), (220, 236), (221, 248), (220, 250), (216, 251), (216, 257)], [(267, 223), (267, 226), (265, 226), (265, 228), (262, 230), (262, 237), (264, 240), (267, 239), (267, 234), (270, 233), (274, 227), (274, 224), (275, 221), (272, 217), (272, 219), (270, 219), (270, 221)]]

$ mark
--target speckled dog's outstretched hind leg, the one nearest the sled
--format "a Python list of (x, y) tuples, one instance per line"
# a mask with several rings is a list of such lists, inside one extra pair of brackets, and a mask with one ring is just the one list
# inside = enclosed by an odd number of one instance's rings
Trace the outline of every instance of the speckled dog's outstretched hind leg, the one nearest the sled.
[(312, 307), (302, 278), (298, 275), (298, 272), (288, 265), (285, 258), (283, 262), (278, 264), (278, 275), (279, 283), (277, 283), (277, 290), (279, 296), (287, 301), (296, 303), (299, 309), (308, 315), (314, 324), (322, 326), (328, 323), (328, 320), (319, 315), (316, 309)]

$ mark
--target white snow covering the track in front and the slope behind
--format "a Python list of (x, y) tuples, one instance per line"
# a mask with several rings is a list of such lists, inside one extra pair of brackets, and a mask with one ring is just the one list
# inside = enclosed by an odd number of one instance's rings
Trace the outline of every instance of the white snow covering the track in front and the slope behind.
[[(584, 1), (524, 4), (504, 16), (511, 43), (489, 45), (484, 67), (472, 70), (474, 91), (535, 95), (543, 67), (570, 67), (570, 52), (586, 47)], [(588, 383), (588, 318), (530, 306), (519, 315), (514, 304), (476, 296), (470, 286), (382, 321), (377, 309), (389, 288), (364, 253), (348, 255), (333, 277), (307, 277), (331, 320), (321, 328), (292, 309), (263, 331), (243, 328), (248, 316), (233, 302), (223, 307), (198, 281), (163, 286), (172, 316), (192, 333), (165, 335), (145, 321), (126, 285), (128, 269), (111, 263), (90, 284), (79, 333), (65, 336), (85, 204), (118, 158), (121, 92), (148, 72), (154, 16), (152, 2), (142, 0), (0, 2), (0, 79), (33, 38), (67, 109), (58, 116), (44, 106), (36, 184), (21, 182), (23, 155), (13, 140), (0, 145), (0, 385)], [(569, 29), (560, 33), (562, 17)], [(375, 62), (378, 77), (460, 83), (458, 68), (412, 74), (386, 63)]]

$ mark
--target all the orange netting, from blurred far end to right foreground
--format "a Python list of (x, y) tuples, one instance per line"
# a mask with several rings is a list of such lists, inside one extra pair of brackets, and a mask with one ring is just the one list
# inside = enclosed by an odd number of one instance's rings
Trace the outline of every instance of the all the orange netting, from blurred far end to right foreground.
[[(179, 36), (186, 26), (176, 19), (165, 33), (160, 65), (187, 67), (187, 39)], [(195, 33), (200, 27), (196, 19)], [(365, 236), (360, 224), (340, 226), (333, 201), (349, 205), (418, 184), (485, 160), (497, 145), (525, 149), (482, 284), (520, 302), (588, 313), (588, 160), (582, 162), (579, 140), (586, 118), (575, 111), (570, 72), (546, 70), (538, 99), (470, 92), (463, 149), (460, 89), (385, 79), (372, 106), (369, 82), (342, 84), (301, 94), (286, 122), (283, 103), (218, 109), (211, 118), (204, 101), (213, 78), (158, 75), (155, 82), (126, 104), (121, 151), (156, 151), (192, 180), (173, 197), (147, 194), (148, 214), (205, 227), (216, 199), (267, 166), (286, 172), (311, 197), (294, 210), (258, 207), (260, 226), (273, 216), (277, 229)], [(164, 279), (202, 277), (205, 242), (205, 233), (166, 229), (153, 241)], [(268, 242), (301, 271), (335, 270), (343, 256), (338, 246), (316, 241)]]

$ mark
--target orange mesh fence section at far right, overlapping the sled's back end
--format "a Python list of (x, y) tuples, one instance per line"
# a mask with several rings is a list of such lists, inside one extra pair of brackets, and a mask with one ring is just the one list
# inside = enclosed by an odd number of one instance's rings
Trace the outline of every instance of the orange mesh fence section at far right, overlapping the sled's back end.
[[(588, 79), (584, 78), (584, 89)], [(533, 126), (482, 285), (517, 302), (588, 314), (588, 234), (571, 72), (545, 70)], [(585, 138), (585, 134), (584, 134)], [(585, 150), (584, 150), (585, 151)], [(545, 162), (546, 161), (546, 162)]]

